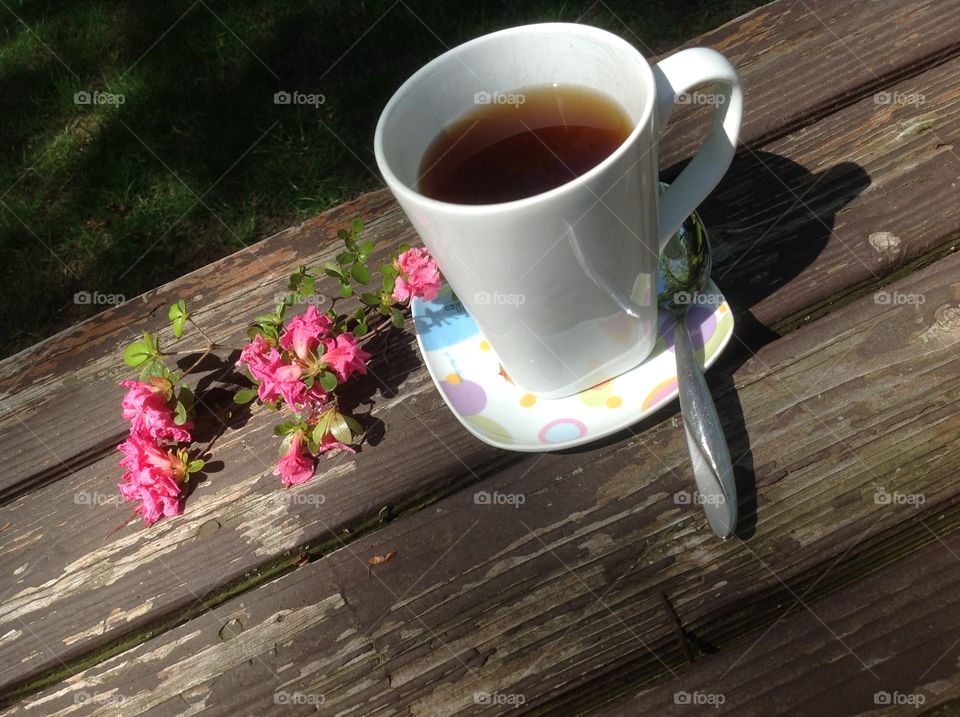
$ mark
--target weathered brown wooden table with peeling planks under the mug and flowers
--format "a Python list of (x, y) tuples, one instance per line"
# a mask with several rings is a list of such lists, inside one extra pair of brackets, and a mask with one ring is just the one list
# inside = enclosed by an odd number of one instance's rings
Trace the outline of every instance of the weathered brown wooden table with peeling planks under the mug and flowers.
[[(497, 450), (410, 335), (354, 396), (369, 443), (300, 499), (254, 410), (183, 516), (104, 539), (129, 514), (118, 349), (178, 297), (239, 345), (354, 217), (382, 252), (415, 243), (384, 191), (0, 363), (8, 714), (960, 712), (958, 38), (947, 0), (780, 0), (690, 43), (747, 89), (702, 210), (737, 318), (709, 374), (742, 498), (726, 543), (675, 501), (676, 404), (584, 450)], [(685, 109), (673, 171), (707, 111)], [(200, 394), (236, 378), (211, 362)]]

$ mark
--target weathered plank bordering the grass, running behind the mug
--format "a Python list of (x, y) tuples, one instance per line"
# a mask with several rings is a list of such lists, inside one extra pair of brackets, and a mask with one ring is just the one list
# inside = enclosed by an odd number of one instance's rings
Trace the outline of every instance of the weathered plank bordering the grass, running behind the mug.
[[(837, 107), (886, 86), (877, 82), (878, 78), (919, 72), (919, 68), (949, 57), (957, 49), (958, 15), (935, 0), (909, 7), (895, 0), (877, 0), (870, 6), (784, 0), (688, 44), (715, 47), (740, 67), (748, 107), (742, 138), (755, 143), (776, 135), (777, 127), (800, 126), (802, 118), (816, 116), (823, 107)], [(628, 28), (625, 33), (629, 36)], [(889, 47), (897, 47), (898, 52), (889, 52)], [(861, 62), (854, 62), (850, 53)], [(844, 57), (849, 61), (798, 62), (798, 56)], [(782, 101), (786, 96), (790, 97), (789, 103)], [(705, 118), (698, 108), (679, 108), (660, 148), (663, 166), (688, 157), (704, 126)], [(747, 174), (751, 172), (756, 175), (753, 170)], [(749, 186), (763, 192), (770, 189), (771, 178), (765, 173), (755, 178)], [(857, 185), (851, 181), (851, 186)], [(736, 187), (732, 182), (731, 177), (726, 186)], [(716, 206), (722, 207), (729, 199), (725, 196)], [(780, 206), (779, 202), (780, 198), (775, 206)], [(723, 214), (720, 209), (710, 218), (722, 218)], [(247, 315), (268, 305), (265, 299), (282, 287), (285, 275), (297, 263), (323, 256), (321, 242), (328, 241), (338, 225), (355, 216), (372, 219), (381, 215), (383, 227), (389, 227), (385, 234), (392, 241), (412, 237), (388, 194), (373, 193), (0, 362), (0, 443), (5, 454), (19, 459), (0, 466), (0, 501), (88, 465), (119, 438), (122, 421), (113, 413), (103, 415), (99, 408), (105, 397), (113, 395), (111, 385), (118, 375), (116, 350), (139, 332), (161, 326), (167, 304), (181, 296), (196, 298), (198, 320), (207, 320), (210, 325), (226, 322), (236, 329)], [(831, 217), (828, 213), (821, 219), (829, 223)], [(767, 220), (768, 226), (772, 221)], [(732, 228), (730, 233), (735, 231)], [(743, 237), (751, 244), (756, 238), (749, 232)], [(784, 289), (782, 285), (777, 288)], [(91, 377), (96, 380), (91, 382)], [(48, 415), (62, 405), (65, 397), (81, 410), (97, 406), (99, 415), (95, 420), (78, 416), (69, 431), (63, 430), (60, 422), (49, 421)], [(38, 444), (40, 451), (35, 450)]]

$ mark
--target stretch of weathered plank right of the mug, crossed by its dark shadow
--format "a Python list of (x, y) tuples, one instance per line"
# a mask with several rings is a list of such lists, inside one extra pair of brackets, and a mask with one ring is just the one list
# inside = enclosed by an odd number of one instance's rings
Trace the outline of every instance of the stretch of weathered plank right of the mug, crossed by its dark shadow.
[[(792, 328), (960, 239), (960, 60), (747, 148), (702, 210), (734, 307)], [(920, 101), (922, 99), (922, 101)]]

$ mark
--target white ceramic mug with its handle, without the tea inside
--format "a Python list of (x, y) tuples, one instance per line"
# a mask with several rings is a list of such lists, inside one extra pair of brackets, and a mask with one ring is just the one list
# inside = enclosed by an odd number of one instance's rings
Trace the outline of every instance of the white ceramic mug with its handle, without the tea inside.
[[(468, 205), (418, 191), (427, 148), (477, 98), (554, 83), (614, 100), (632, 132), (593, 169), (531, 197)], [(706, 141), (658, 196), (657, 142), (670, 110), (705, 83), (715, 84)], [(652, 350), (659, 252), (729, 167), (742, 112), (737, 73), (713, 50), (682, 50), (651, 67), (609, 32), (545, 23), (479, 37), (425, 65), (384, 108), (374, 151), (511, 379), (559, 398), (633, 368)]]

